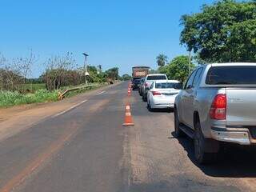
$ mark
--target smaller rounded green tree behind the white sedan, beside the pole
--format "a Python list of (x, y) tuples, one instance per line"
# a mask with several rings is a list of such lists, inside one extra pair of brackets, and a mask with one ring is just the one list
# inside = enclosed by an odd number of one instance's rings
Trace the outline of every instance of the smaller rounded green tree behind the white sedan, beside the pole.
[[(191, 69), (194, 64), (191, 65)], [(189, 76), (189, 57), (185, 55), (174, 58), (169, 65), (159, 67), (159, 72), (166, 74), (169, 79), (176, 79), (185, 82)]]

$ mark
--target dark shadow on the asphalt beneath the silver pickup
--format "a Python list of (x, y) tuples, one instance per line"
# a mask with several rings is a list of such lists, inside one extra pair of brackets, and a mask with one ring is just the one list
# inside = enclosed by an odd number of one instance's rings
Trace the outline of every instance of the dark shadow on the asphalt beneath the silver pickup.
[[(174, 132), (172, 133), (174, 136)], [(194, 142), (192, 139), (178, 138), (178, 142), (187, 152), (188, 158), (205, 174), (221, 178), (255, 178), (256, 147), (223, 145), (218, 155), (218, 162), (212, 165), (199, 165), (194, 159)]]

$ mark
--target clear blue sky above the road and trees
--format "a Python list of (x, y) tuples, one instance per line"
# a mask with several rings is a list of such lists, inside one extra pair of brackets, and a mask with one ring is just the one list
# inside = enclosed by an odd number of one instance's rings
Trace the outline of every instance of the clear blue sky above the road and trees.
[(198, 12), (213, 0), (1, 0), (0, 52), (7, 58), (39, 55), (33, 77), (42, 62), (70, 51), (79, 66), (82, 52), (90, 65), (103, 70), (118, 66), (156, 68), (155, 58), (186, 54), (179, 44), (182, 14)]

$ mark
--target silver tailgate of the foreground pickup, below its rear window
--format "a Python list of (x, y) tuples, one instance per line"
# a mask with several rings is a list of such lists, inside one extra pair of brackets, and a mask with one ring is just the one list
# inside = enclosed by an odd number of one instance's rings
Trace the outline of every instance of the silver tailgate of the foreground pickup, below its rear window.
[(226, 88), (227, 126), (256, 126), (256, 88)]

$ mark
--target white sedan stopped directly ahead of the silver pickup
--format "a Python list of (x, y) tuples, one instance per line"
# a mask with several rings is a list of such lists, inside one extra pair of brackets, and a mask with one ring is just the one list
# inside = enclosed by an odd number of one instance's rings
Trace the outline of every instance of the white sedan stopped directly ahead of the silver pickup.
[(182, 90), (182, 83), (176, 80), (153, 82), (147, 92), (148, 109), (174, 108), (174, 101), (180, 90)]

